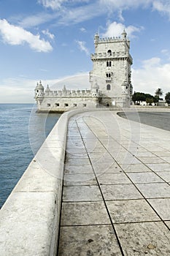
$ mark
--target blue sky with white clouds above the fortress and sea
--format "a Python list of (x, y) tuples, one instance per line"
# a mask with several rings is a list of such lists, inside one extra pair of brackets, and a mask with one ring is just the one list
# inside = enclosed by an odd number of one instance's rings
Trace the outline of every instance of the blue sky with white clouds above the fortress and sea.
[(131, 40), (134, 91), (170, 91), (169, 0), (0, 0), (0, 103), (46, 87), (88, 89), (93, 37)]

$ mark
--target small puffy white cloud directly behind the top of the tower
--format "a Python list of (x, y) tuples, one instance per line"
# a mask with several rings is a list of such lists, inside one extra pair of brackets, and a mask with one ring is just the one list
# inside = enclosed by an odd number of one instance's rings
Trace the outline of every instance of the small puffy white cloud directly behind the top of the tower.
[(139, 32), (141, 31), (143, 28), (137, 28), (135, 26), (128, 26), (125, 27), (125, 25), (123, 25), (122, 23), (117, 23), (117, 22), (113, 22), (113, 23), (109, 23), (107, 25), (107, 31), (102, 34), (102, 37), (120, 37), (120, 35), (123, 32), (123, 29), (125, 29), (126, 33), (128, 34), (128, 37), (135, 37), (134, 36), (134, 32)]

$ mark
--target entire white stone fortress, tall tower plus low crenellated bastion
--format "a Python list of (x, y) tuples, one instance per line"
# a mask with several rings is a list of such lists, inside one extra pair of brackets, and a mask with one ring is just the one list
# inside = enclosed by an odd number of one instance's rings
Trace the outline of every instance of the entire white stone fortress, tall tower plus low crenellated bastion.
[[(91, 54), (93, 69), (89, 74), (90, 89), (44, 89), (37, 83), (34, 99), (38, 111), (64, 112), (75, 108), (128, 108), (131, 105), (130, 41), (125, 31), (121, 37), (94, 37), (95, 53)], [(87, 86), (88, 87), (88, 86)]]

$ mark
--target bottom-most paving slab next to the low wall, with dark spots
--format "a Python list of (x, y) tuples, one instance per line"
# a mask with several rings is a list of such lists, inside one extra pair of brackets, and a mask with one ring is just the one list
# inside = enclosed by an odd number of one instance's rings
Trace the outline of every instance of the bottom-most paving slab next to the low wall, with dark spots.
[(60, 256), (121, 255), (112, 225), (61, 227)]

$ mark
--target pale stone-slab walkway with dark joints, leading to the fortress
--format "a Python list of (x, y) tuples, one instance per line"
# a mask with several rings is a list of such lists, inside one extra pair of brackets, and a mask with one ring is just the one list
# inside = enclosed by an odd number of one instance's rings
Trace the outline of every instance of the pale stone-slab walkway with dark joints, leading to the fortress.
[(59, 255), (170, 255), (169, 185), (170, 132), (115, 111), (74, 116)]

